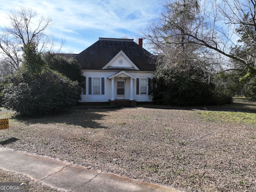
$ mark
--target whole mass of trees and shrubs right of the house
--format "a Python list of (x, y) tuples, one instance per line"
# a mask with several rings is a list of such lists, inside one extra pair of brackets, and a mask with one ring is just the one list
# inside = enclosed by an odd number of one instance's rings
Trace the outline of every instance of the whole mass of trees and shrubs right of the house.
[(158, 55), (156, 102), (256, 99), (255, 0), (164, 0), (162, 7), (142, 30)]

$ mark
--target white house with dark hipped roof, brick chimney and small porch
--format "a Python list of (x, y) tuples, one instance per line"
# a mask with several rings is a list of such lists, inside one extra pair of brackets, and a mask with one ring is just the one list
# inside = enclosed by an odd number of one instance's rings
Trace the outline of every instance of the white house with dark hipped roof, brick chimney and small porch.
[(156, 65), (142, 39), (99, 38), (74, 58), (85, 76), (80, 102), (152, 102)]

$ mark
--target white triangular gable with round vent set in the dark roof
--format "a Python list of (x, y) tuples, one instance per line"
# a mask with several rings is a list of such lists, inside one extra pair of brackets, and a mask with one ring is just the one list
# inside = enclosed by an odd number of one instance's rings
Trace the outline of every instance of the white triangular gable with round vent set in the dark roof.
[(126, 54), (121, 50), (108, 64), (106, 64), (102, 69), (130, 69), (139, 70), (139, 68), (126, 56)]

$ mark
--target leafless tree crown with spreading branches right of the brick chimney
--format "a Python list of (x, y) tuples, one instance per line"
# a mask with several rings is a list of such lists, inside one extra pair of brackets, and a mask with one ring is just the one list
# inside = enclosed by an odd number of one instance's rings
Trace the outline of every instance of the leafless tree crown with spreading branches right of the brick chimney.
[[(216, 73), (218, 69), (232, 70), (232, 66), (225, 68), (225, 64), (232, 64), (231, 60), (241, 63), (244, 70), (250, 73), (256, 71), (256, 1), (255, 0), (195, 0), (198, 4), (198, 11), (193, 14), (184, 14), (186, 18), (183, 20), (175, 17), (173, 12), (173, 5), (177, 5), (178, 1), (164, 0), (164, 11), (153, 22), (151, 22), (144, 31), (144, 36), (152, 45), (154, 50), (159, 53), (165, 53), (166, 50), (177, 50), (177, 45), (189, 45), (198, 47), (196, 49), (197, 55), (214, 55), (216, 58), (221, 58), (220, 63), (212, 63)], [(180, 3), (188, 4), (186, 0)], [(196, 7), (196, 6), (195, 6)], [(183, 9), (185, 10), (185, 9)], [(193, 9), (192, 9), (193, 10)], [(178, 10), (180, 13), (181, 10)], [(188, 19), (188, 16), (190, 17)], [(192, 19), (191, 19), (192, 18)], [(186, 22), (184, 22), (186, 21)], [(247, 47), (250, 48), (246, 56), (241, 57), (234, 54), (231, 48), (239, 44), (241, 33), (237, 29), (243, 28), (243, 35), (248, 37)], [(250, 29), (250, 30), (249, 30)], [(180, 39), (178, 42), (176, 41)], [(240, 41), (241, 46), (244, 42)], [(173, 54), (174, 55), (174, 54)], [(213, 59), (214, 60), (214, 59)], [(253, 64), (252, 64), (253, 63)], [(218, 66), (217, 66), (218, 65)]]

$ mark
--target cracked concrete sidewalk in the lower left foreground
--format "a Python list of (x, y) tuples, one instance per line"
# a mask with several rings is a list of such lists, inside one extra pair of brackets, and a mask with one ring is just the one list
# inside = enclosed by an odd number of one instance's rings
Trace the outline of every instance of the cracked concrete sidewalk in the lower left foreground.
[(0, 147), (0, 169), (25, 174), (67, 192), (180, 192), (68, 162)]

